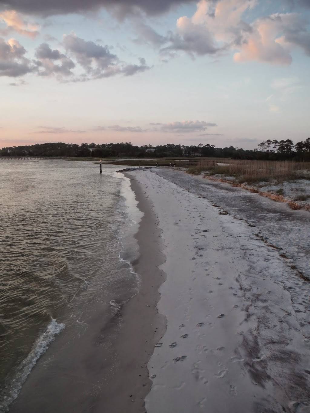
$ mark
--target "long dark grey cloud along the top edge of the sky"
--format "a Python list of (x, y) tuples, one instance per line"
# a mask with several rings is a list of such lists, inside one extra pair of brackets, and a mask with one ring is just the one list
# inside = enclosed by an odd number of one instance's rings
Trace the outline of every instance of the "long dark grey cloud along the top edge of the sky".
[(7, 9), (41, 15), (95, 12), (102, 7), (112, 9), (119, 17), (136, 14), (138, 11), (149, 15), (167, 12), (172, 6), (191, 3), (193, 0), (5, 0)]

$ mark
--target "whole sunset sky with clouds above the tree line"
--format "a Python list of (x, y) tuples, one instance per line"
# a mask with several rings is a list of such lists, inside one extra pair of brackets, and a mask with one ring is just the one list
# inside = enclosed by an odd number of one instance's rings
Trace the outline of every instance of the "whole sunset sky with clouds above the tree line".
[(0, 148), (310, 136), (310, 0), (0, 0)]

